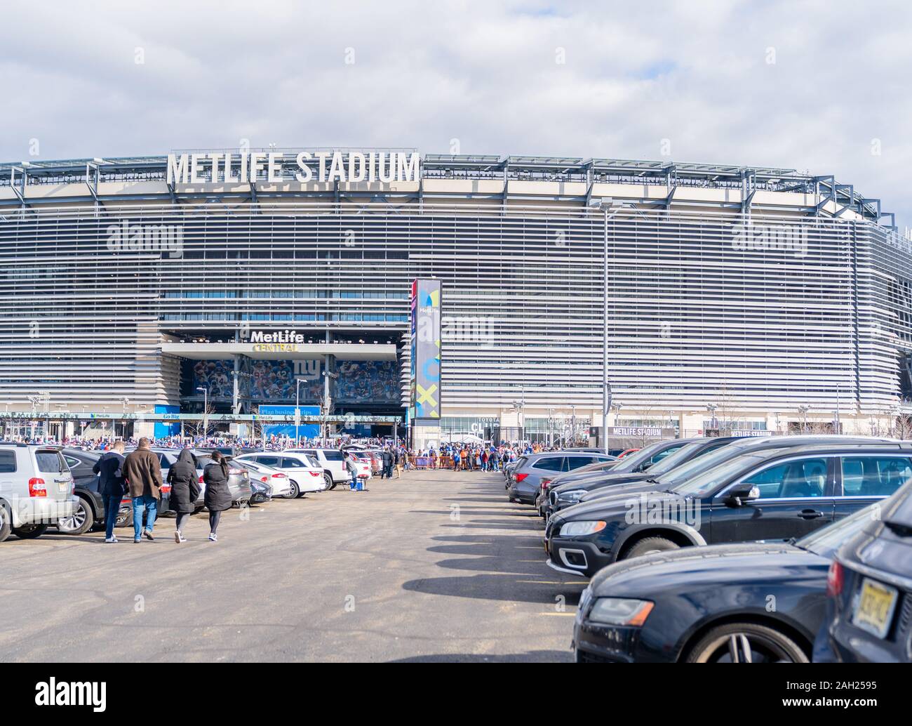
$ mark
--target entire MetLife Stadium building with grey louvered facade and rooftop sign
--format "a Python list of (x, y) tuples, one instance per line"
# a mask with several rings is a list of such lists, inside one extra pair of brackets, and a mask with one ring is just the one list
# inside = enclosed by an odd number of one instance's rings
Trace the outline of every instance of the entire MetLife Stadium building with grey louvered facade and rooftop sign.
[(0, 406), (404, 421), (415, 279), (443, 435), (588, 433), (605, 378), (612, 424), (688, 434), (906, 410), (912, 249), (851, 184), (410, 149), (0, 164)]

